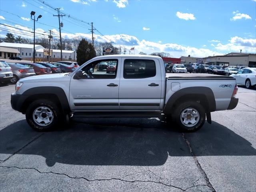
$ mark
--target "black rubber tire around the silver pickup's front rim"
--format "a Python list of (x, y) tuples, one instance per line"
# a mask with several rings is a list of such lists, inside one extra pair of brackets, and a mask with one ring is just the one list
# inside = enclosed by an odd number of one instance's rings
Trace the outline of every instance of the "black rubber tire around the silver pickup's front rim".
[[(38, 124), (33, 118), (34, 111), (40, 106), (49, 108), (53, 114), (52, 122), (44, 126)], [(30, 127), (36, 131), (42, 132), (54, 130), (58, 127), (58, 124), (64, 120), (64, 118), (65, 116), (62, 114), (60, 108), (50, 100), (36, 100), (32, 102), (26, 110), (26, 120)]]

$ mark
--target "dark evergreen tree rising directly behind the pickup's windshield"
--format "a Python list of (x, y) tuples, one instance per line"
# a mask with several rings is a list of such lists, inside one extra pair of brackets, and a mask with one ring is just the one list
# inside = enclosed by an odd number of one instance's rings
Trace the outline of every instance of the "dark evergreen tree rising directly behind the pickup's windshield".
[(96, 57), (96, 52), (91, 43), (88, 43), (84, 38), (80, 41), (76, 50), (76, 61), (79, 65), (84, 64), (86, 61)]

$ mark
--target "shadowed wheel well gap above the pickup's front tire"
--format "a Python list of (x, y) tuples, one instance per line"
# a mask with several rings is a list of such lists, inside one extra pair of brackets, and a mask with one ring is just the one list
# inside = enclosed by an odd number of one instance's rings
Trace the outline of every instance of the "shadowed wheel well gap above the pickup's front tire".
[(26, 110), (30, 103), (32, 103), (36, 100), (40, 100), (40, 99), (50, 100), (50, 101), (54, 102), (55, 104), (57, 104), (58, 107), (62, 108), (62, 106), (60, 104), (60, 100), (56, 94), (34, 94), (34, 95), (26, 98), (26, 100), (24, 101), (24, 103), (22, 105), (22, 113), (23, 114), (26, 113)]

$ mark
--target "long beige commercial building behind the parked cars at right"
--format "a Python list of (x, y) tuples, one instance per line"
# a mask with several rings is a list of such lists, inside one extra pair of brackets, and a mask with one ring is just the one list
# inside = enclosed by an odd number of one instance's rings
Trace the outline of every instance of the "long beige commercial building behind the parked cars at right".
[(218, 65), (222, 67), (227, 67), (227, 66), (256, 67), (256, 54), (231, 52), (226, 55), (199, 58), (196, 60), (196, 62), (204, 63), (208, 65)]

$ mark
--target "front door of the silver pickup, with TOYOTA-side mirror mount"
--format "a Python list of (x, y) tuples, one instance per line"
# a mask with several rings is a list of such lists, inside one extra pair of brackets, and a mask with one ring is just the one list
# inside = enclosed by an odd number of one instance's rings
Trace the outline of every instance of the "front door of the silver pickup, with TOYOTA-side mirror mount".
[[(121, 58), (93, 61), (83, 68), (83, 78), (70, 81), (70, 107), (75, 111), (119, 110)], [(99, 66), (108, 66), (101, 68)]]

